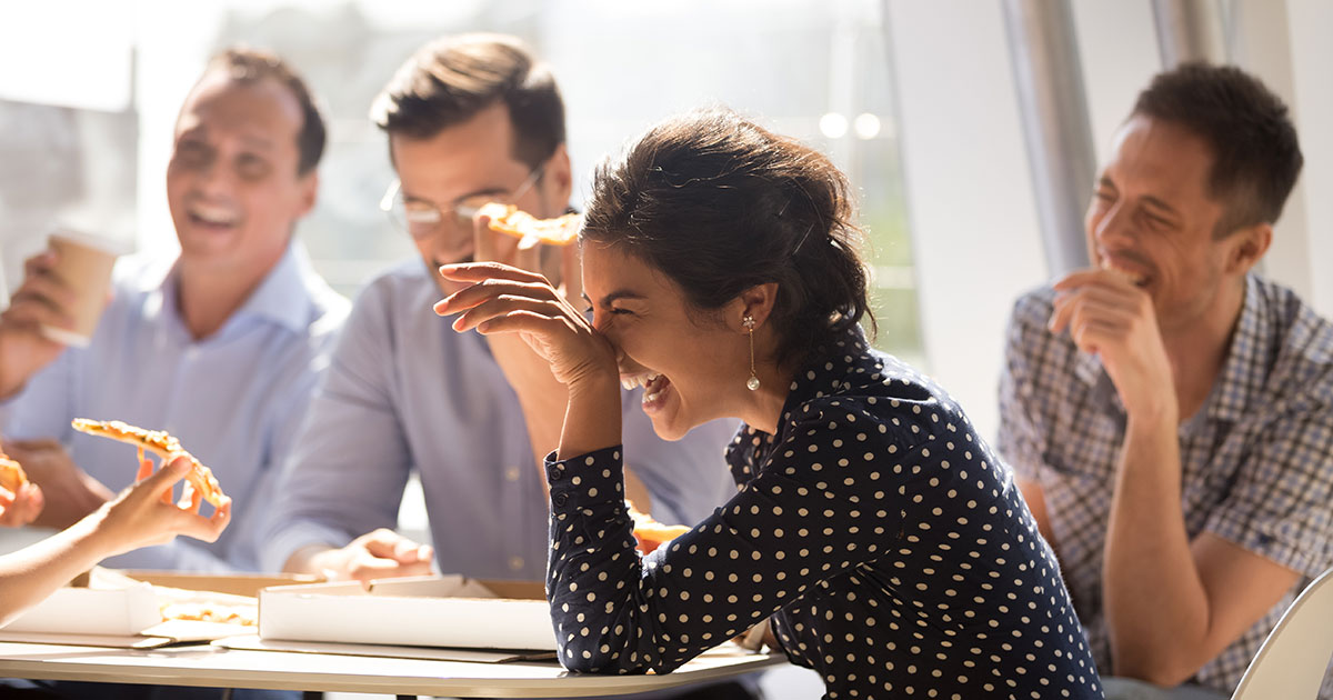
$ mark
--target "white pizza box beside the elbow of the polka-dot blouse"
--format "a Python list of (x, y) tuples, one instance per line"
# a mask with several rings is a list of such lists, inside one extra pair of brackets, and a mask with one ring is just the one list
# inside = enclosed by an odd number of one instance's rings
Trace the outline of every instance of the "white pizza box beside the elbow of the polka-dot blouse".
[[(531, 659), (535, 655), (525, 652), (556, 651), (544, 596), (539, 583), (481, 581), (459, 575), (385, 579), (369, 585), (351, 581), (267, 588), (259, 596), (259, 639), (516, 649), (495, 660)], [(301, 651), (284, 645), (287, 651)]]

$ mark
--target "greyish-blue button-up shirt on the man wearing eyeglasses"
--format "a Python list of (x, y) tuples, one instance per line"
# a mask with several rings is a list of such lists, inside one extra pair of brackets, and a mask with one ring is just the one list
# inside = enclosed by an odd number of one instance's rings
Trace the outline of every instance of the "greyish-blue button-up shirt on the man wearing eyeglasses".
[[(436, 565), (483, 579), (541, 580), (547, 497), (519, 399), (476, 332), (431, 309), (420, 260), (360, 295), (284, 468), (261, 564), (311, 544), (343, 547), (397, 524), (408, 476), (421, 479)], [(696, 523), (736, 493), (724, 451), (737, 423), (669, 443), (624, 393), (624, 441), (663, 521)], [(629, 445), (633, 445), (632, 448)]]

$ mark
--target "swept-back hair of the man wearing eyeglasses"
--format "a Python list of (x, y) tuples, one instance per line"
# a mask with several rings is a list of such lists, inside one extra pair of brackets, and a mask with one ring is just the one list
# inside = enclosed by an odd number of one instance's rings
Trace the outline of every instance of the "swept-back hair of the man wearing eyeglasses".
[(392, 135), (429, 139), (504, 103), (513, 156), (536, 168), (565, 143), (565, 103), (551, 69), (505, 35), (437, 39), (399, 68), (371, 105), (371, 120)]

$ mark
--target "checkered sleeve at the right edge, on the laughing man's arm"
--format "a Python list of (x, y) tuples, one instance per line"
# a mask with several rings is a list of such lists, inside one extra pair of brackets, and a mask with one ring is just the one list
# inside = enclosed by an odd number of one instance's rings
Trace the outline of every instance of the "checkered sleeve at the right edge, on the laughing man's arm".
[(1333, 412), (1280, 412), (1205, 529), (1314, 577), (1333, 565)]

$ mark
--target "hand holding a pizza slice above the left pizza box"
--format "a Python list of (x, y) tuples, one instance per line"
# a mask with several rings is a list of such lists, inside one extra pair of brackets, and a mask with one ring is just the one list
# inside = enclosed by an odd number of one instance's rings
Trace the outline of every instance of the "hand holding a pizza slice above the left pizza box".
[(217, 540), (232, 519), (231, 500), (216, 508), (212, 517), (199, 515), (203, 499), (197, 493), (185, 505), (172, 503), (172, 488), (191, 468), (189, 457), (179, 456), (152, 473), (152, 461), (144, 460), (139, 471), (141, 480), (89, 516), (97, 519), (97, 536), (108, 552), (105, 556), (167, 544), (177, 535), (208, 543)]

